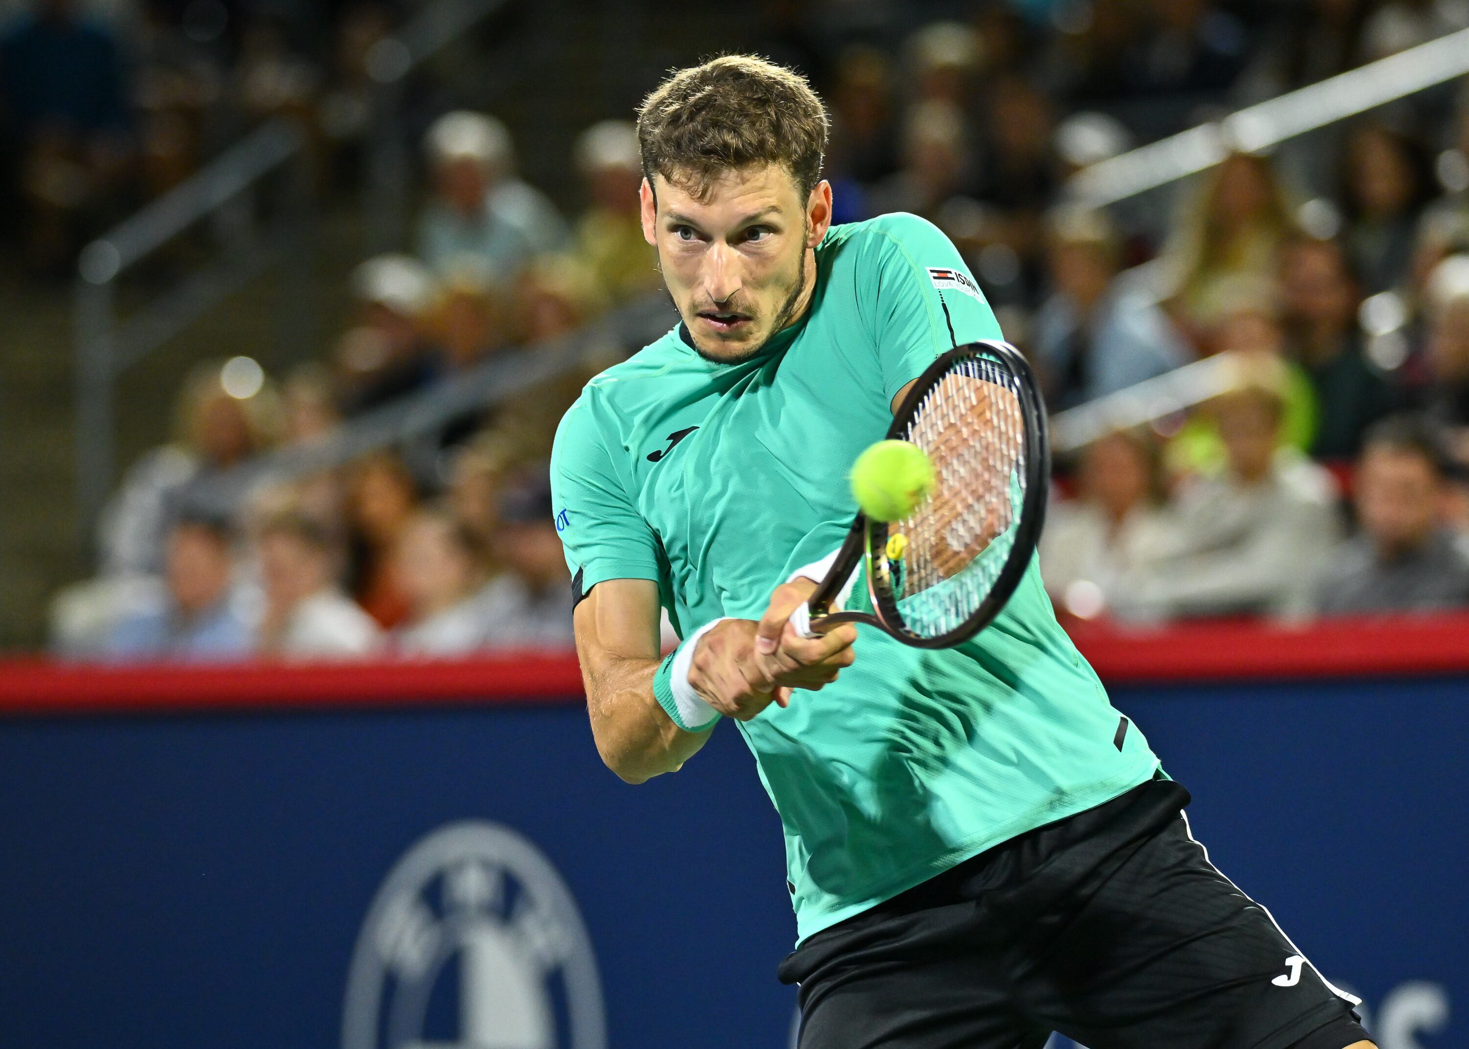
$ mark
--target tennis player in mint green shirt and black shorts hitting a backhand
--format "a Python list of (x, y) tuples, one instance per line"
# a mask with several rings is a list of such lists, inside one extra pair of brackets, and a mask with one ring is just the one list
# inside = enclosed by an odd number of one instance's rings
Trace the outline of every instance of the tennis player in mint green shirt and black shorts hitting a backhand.
[[(754, 57), (638, 122), (683, 320), (557, 432), (557, 524), (604, 761), (677, 771), (721, 718), (786, 834), (802, 1049), (1362, 1049), (1351, 1006), (1188, 833), (1188, 793), (1056, 624), (1034, 564), (952, 649), (787, 624), (905, 388), (1000, 329), (912, 215), (831, 226), (827, 118)], [(855, 592), (851, 601), (861, 601)], [(683, 638), (660, 658), (660, 607)]]

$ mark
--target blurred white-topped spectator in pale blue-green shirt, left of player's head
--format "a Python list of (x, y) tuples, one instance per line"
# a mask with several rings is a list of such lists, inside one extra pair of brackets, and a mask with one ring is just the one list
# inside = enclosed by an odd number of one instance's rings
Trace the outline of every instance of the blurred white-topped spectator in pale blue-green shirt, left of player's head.
[(445, 113), (423, 138), (433, 200), (419, 220), (419, 256), (438, 269), (477, 256), (498, 282), (535, 254), (567, 241), (566, 222), (539, 190), (514, 175), (505, 125), (483, 113)]

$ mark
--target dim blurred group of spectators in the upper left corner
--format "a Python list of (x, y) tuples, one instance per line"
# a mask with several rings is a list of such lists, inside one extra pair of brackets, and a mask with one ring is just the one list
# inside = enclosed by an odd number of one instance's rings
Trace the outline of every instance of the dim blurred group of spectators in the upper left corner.
[(369, 56), (401, 0), (0, 0), (0, 238), (69, 278), (91, 237), (264, 118), (310, 131), (323, 184), (364, 169)]

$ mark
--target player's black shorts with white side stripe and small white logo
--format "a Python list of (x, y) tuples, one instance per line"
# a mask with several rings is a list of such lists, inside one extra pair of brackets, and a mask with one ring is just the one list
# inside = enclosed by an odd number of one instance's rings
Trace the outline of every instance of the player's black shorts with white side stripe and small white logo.
[(1344, 1049), (1353, 1002), (1188, 834), (1155, 779), (811, 936), (801, 1049)]

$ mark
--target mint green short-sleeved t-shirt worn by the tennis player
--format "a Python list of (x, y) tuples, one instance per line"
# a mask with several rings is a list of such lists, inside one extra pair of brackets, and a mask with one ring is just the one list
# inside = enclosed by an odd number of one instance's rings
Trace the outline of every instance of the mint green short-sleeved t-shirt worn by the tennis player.
[[(759, 619), (777, 585), (840, 545), (848, 472), (898, 391), (956, 342), (1000, 336), (924, 219), (833, 226), (815, 257), (809, 310), (757, 357), (707, 361), (674, 329), (567, 411), (551, 482), (583, 594), (655, 580), (680, 636)], [(858, 633), (836, 683), (736, 723), (784, 827), (801, 939), (1158, 767), (1056, 624), (1036, 561), (956, 648)], [(655, 695), (677, 721), (661, 679)]]

